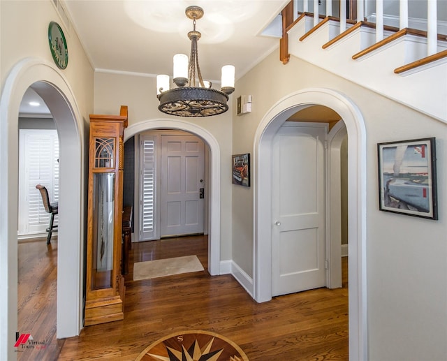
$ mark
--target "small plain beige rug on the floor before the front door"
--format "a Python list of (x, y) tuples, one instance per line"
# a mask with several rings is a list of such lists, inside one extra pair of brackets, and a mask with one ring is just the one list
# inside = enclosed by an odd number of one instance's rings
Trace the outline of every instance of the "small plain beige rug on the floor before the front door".
[(203, 271), (203, 265), (197, 256), (147, 260), (133, 265), (133, 281), (198, 271)]

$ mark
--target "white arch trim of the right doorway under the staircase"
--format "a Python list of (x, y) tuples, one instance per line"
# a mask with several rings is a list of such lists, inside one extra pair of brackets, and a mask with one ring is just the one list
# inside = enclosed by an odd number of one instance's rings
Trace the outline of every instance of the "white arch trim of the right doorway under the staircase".
[(330, 89), (304, 89), (289, 94), (263, 117), (254, 142), (254, 295), (272, 298), (272, 140), (281, 124), (309, 105), (324, 105), (342, 117), (349, 137), (349, 355), (363, 360), (367, 352), (366, 325), (366, 135), (360, 110)]

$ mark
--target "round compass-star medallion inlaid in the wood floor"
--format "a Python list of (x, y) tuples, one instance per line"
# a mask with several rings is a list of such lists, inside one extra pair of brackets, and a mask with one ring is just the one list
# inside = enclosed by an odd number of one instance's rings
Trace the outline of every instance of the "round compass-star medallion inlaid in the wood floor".
[(233, 341), (210, 331), (183, 331), (170, 334), (145, 348), (135, 361), (249, 361)]

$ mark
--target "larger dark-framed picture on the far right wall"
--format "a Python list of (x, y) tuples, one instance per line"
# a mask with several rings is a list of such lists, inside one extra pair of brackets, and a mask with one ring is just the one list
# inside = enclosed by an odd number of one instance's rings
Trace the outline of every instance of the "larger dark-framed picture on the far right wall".
[(379, 156), (379, 209), (438, 219), (435, 138), (386, 142)]

